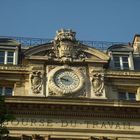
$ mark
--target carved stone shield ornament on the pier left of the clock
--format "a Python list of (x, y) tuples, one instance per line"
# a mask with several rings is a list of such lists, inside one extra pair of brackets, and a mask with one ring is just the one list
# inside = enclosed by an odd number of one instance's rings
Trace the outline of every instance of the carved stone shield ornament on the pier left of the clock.
[(39, 71), (34, 71), (31, 75), (31, 89), (33, 93), (39, 94), (42, 89), (42, 74)]

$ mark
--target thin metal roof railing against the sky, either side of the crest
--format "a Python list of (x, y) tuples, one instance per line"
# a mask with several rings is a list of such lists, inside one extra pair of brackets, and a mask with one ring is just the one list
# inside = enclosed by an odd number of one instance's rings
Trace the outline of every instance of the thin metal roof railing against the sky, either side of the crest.
[[(0, 36), (0, 38), (14, 39), (20, 42), (22, 47), (36, 46), (44, 43), (51, 43), (53, 41), (53, 39), (46, 38), (30, 38), (30, 37), (15, 37), (15, 36)], [(95, 47), (99, 50), (107, 50), (107, 48), (115, 44), (124, 44), (124, 45), (128, 44), (126, 42), (85, 41), (85, 40), (79, 40), (79, 42), (91, 47)]]

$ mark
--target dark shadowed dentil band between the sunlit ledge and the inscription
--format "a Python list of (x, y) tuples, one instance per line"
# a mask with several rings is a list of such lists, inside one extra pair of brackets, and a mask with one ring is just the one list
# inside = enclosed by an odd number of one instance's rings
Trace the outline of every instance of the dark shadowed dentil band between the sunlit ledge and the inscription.
[[(7, 101), (6, 101), (7, 102)], [(129, 118), (139, 119), (140, 109), (129, 107), (105, 107), (97, 105), (74, 105), (74, 104), (54, 104), (54, 103), (8, 103), (8, 110), (16, 115), (49, 115), (49, 116), (71, 116), (71, 117), (95, 117), (95, 118)], [(118, 112), (118, 113), (116, 113)]]

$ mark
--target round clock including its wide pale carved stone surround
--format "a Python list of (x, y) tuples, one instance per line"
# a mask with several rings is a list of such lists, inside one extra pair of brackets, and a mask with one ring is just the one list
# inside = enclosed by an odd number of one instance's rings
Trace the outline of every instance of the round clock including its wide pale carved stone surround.
[(84, 76), (81, 71), (71, 67), (59, 67), (51, 71), (49, 89), (56, 95), (71, 95), (82, 89)]

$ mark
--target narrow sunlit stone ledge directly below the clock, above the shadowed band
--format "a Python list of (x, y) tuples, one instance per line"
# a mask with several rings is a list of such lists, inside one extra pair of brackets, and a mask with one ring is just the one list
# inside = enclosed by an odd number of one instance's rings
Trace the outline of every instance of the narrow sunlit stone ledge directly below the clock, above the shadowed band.
[(89, 98), (63, 98), (63, 97), (29, 97), (12, 96), (6, 97), (6, 103), (30, 103), (30, 104), (58, 104), (58, 105), (81, 105), (81, 106), (106, 106), (106, 107), (129, 107), (139, 108), (140, 101), (122, 101)]

